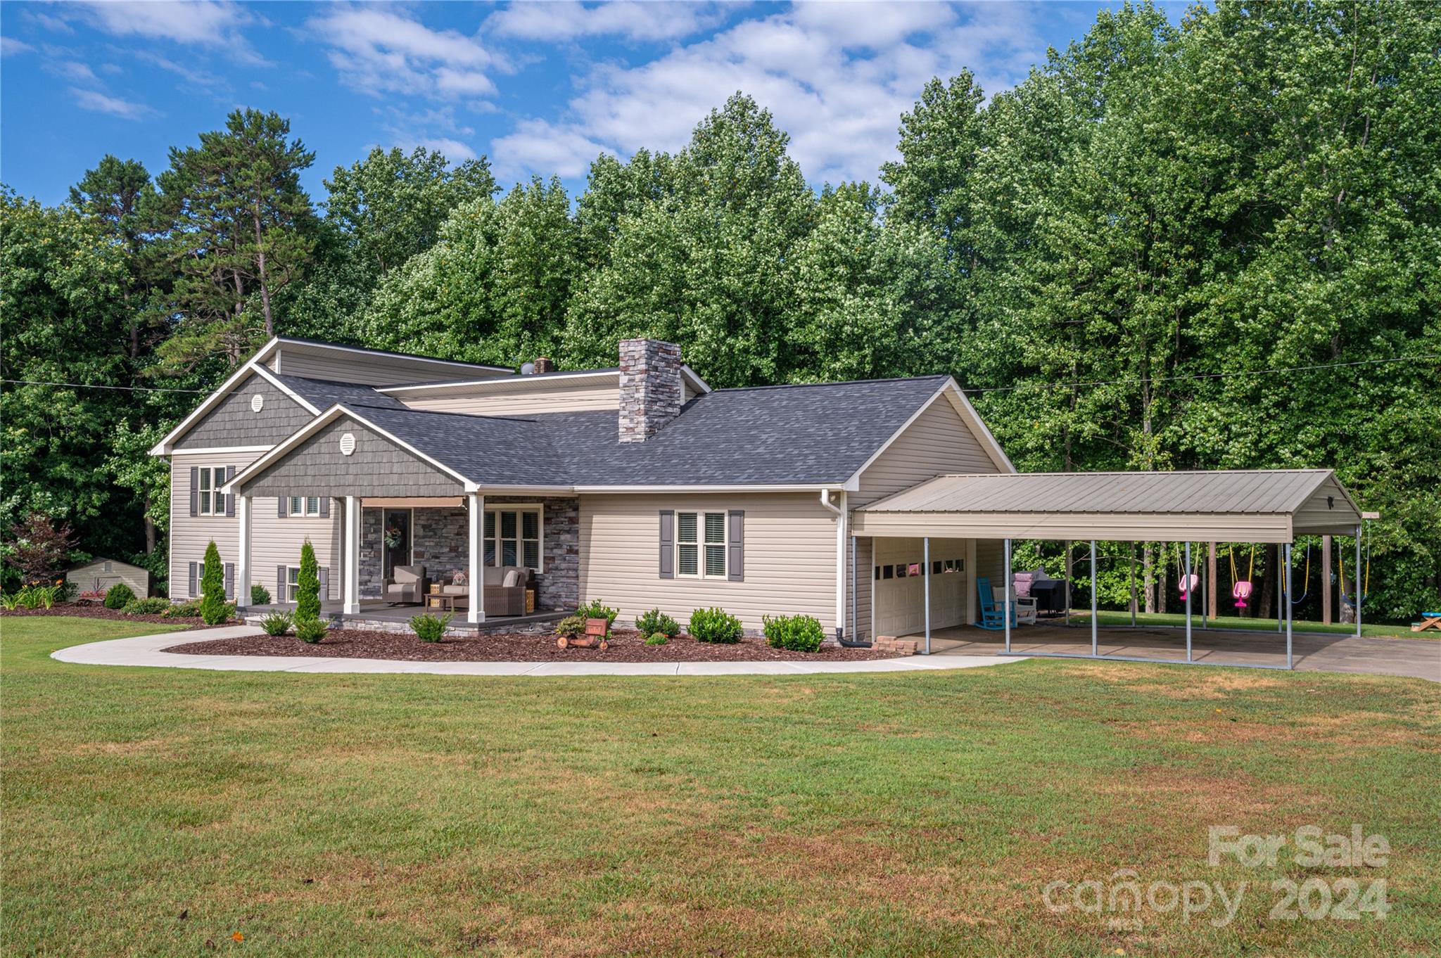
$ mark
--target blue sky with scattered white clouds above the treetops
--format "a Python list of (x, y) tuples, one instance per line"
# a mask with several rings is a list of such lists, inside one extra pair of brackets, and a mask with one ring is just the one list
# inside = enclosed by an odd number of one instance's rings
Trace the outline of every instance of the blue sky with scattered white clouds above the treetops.
[(316, 151), (317, 200), (337, 164), (416, 144), (574, 194), (601, 151), (674, 150), (745, 89), (813, 183), (875, 180), (929, 76), (1012, 86), (1105, 6), (4, 3), (0, 179), (58, 203), (105, 153), (159, 173), (256, 107)]

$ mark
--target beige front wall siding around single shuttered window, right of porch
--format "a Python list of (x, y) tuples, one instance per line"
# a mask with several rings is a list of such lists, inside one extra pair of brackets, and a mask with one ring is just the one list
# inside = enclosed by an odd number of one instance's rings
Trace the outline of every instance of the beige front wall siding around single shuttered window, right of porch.
[[(661, 579), (660, 510), (745, 510), (745, 581)], [(808, 493), (581, 496), (581, 601), (631, 625), (650, 608), (682, 624), (718, 605), (759, 631), (762, 615), (804, 614), (836, 628), (836, 517)]]

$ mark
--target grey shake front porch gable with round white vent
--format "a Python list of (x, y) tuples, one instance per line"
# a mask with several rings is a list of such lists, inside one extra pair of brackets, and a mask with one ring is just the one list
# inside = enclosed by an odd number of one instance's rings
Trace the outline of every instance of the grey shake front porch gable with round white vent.
[[(340, 437), (352, 434), (352, 455), (340, 452)], [(416, 458), (350, 416), (323, 426), (275, 465), (251, 480), (248, 496), (460, 496), (460, 481)]]

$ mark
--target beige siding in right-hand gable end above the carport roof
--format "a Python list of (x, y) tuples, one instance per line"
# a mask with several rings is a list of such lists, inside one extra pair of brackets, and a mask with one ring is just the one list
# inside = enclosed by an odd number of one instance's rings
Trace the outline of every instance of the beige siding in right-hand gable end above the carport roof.
[(997, 473), (976, 434), (945, 395), (935, 398), (860, 474), (852, 509), (948, 473)]

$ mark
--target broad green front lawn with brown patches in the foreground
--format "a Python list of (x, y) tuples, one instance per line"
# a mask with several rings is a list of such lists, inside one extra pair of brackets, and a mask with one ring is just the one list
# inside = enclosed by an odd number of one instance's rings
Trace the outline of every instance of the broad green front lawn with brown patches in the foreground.
[[(0, 619), (3, 951), (1391, 955), (1441, 949), (1441, 686), (1023, 661), (477, 679), (56, 663)], [(154, 631), (128, 627), (130, 634)], [(1362, 823), (1386, 921), (1272, 921), (1210, 824)], [(1249, 882), (1235, 922), (1052, 880)], [(242, 942), (231, 935), (239, 932)], [(215, 951), (206, 944), (213, 942)]]

